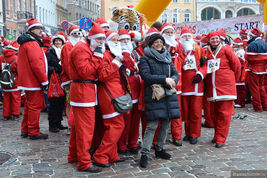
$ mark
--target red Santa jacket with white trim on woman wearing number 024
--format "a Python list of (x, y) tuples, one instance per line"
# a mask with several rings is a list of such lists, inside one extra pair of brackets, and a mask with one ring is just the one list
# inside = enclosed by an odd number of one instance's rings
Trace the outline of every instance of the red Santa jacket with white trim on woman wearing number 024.
[(207, 56), (207, 62), (220, 58), (219, 69), (206, 76), (207, 101), (236, 99), (235, 81), (238, 80), (241, 72), (238, 57), (231, 49), (223, 45), (220, 45), (217, 52), (212, 55), (208, 49)]

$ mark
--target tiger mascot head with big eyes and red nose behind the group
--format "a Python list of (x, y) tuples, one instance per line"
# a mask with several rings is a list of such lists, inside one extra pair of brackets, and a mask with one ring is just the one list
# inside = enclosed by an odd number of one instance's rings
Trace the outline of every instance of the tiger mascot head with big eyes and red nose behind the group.
[[(118, 33), (118, 29), (130, 30), (133, 47), (136, 48), (139, 42), (145, 40), (149, 26), (145, 24), (147, 19), (144, 14), (134, 10), (134, 6), (124, 6), (113, 11), (113, 16), (108, 20), (110, 29)], [(142, 24), (142, 25), (141, 25)]]

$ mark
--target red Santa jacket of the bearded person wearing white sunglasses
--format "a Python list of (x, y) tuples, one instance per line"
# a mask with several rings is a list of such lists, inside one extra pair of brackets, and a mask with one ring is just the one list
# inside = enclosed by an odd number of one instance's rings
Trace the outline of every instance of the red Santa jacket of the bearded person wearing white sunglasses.
[(72, 48), (73, 45), (69, 41), (61, 49), (61, 55), (60, 55), (60, 61), (62, 66), (62, 72), (60, 74), (60, 80), (62, 82), (61, 87), (63, 87), (63, 85), (71, 83), (70, 73), (69, 73), (69, 56)]

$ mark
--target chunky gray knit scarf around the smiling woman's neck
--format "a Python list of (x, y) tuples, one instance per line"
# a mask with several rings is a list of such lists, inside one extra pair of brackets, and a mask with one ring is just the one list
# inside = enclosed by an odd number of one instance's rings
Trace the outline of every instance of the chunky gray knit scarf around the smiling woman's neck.
[(171, 64), (172, 62), (171, 55), (166, 49), (164, 49), (163, 53), (159, 53), (156, 49), (147, 46), (145, 47), (144, 52), (146, 56), (152, 57), (162, 63)]

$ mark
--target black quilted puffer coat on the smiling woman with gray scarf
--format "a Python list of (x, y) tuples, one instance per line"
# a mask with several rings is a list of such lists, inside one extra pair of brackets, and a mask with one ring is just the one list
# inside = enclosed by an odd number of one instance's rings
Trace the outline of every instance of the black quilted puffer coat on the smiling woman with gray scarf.
[[(171, 78), (178, 83), (179, 74), (171, 62)], [(145, 82), (145, 118), (146, 121), (153, 121), (157, 119), (177, 119), (180, 118), (180, 108), (176, 93), (172, 96), (166, 96), (157, 101), (152, 99), (153, 84), (164, 84), (166, 77), (169, 76), (168, 64), (162, 63), (149, 56), (142, 56), (140, 58), (140, 72), (141, 77)]]

